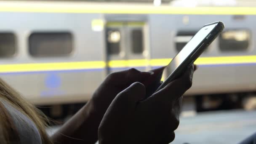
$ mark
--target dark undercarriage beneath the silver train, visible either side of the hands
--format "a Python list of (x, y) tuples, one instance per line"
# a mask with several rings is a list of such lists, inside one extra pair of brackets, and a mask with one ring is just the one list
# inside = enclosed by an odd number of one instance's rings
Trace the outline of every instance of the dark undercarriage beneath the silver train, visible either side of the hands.
[[(49, 117), (50, 126), (62, 124), (81, 109), (86, 102), (40, 105), (37, 108)], [(194, 117), (205, 112), (253, 111), (256, 109), (256, 93), (212, 94), (184, 96), (181, 117)]]

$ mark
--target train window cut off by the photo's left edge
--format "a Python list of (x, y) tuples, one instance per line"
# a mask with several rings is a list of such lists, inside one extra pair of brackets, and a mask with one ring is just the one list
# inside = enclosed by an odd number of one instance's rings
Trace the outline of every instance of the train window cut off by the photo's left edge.
[(13, 33), (0, 33), (0, 57), (11, 57), (16, 51)]

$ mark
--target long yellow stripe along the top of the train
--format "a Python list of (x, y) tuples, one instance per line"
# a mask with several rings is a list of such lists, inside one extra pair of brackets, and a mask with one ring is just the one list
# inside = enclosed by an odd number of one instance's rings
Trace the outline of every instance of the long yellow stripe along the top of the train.
[(0, 2), (2, 12), (256, 15), (255, 7), (154, 7), (152, 5)]

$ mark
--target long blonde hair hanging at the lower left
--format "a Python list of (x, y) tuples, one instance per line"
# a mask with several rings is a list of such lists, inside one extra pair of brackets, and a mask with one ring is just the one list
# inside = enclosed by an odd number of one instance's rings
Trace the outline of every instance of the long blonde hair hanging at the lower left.
[[(0, 79), (0, 98), (8, 101), (11, 106), (21, 111), (24, 115), (29, 117), (37, 126), (43, 144), (52, 144), (51, 140), (46, 133), (47, 117), (37, 109), (34, 105), (23, 99), (18, 92), (11, 88), (7, 83)], [(0, 102), (0, 136), (4, 144), (11, 144), (13, 139), (19, 141), (16, 130), (13, 128), (11, 117), (6, 112), (3, 104)], [(16, 136), (16, 137), (15, 137)]]

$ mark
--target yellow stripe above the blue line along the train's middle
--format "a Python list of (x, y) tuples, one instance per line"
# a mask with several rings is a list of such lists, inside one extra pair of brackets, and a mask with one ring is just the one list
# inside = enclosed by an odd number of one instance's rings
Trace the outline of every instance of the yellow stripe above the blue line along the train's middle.
[[(35, 63), (35, 64), (0, 64), (0, 73), (8, 72), (38, 72), (38, 71), (59, 71), (79, 69), (103, 69), (122, 67), (157, 67), (167, 65), (171, 59), (133, 59), (113, 60), (108, 63), (104, 61), (74, 61), (56, 63)], [(199, 65), (213, 64), (247, 64), (256, 63), (256, 56), (221, 56), (221, 57), (200, 57), (195, 61)]]

